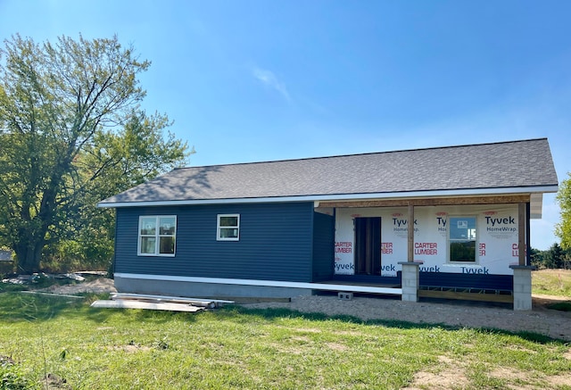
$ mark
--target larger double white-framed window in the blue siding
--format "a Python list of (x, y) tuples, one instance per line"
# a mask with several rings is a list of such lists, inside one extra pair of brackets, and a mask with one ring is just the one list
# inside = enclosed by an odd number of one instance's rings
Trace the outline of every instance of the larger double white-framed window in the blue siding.
[(139, 217), (140, 256), (174, 256), (177, 217), (174, 215)]

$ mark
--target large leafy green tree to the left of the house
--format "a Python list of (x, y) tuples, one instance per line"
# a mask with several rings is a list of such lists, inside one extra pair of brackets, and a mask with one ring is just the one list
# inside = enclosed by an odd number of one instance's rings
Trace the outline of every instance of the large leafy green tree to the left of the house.
[[(20, 36), (0, 50), (0, 245), (20, 271), (65, 240), (109, 235), (112, 213), (95, 203), (186, 161), (166, 115), (139, 104), (139, 61), (117, 37)], [(82, 238), (83, 236), (83, 238)]]

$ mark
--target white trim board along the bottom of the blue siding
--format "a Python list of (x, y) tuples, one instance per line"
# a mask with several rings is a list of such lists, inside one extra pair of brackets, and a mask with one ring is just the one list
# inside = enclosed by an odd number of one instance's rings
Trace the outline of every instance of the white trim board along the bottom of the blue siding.
[(353, 293), (375, 293), (375, 294), (391, 294), (401, 295), (401, 288), (376, 287), (376, 286), (352, 286), (352, 285), (329, 285), (326, 283), (304, 283), (304, 282), (287, 282), (281, 280), (257, 280), (257, 279), (234, 279), (234, 278), (197, 278), (197, 277), (179, 277), (171, 275), (149, 275), (149, 274), (133, 274), (118, 272), (115, 278), (125, 279), (143, 279), (143, 280), (159, 280), (168, 282), (186, 282), (186, 283), (211, 283), (217, 285), (237, 285), (237, 286), (265, 286), (265, 287), (287, 287), (287, 288), (305, 288), (311, 290), (324, 291), (350, 291)]

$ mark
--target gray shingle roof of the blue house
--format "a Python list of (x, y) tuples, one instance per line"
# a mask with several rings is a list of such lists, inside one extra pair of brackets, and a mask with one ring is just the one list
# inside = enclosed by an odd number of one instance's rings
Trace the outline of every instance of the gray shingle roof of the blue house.
[(548, 141), (540, 138), (182, 168), (100, 205), (557, 185)]

